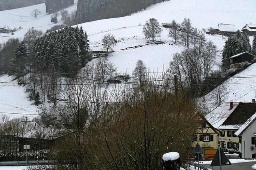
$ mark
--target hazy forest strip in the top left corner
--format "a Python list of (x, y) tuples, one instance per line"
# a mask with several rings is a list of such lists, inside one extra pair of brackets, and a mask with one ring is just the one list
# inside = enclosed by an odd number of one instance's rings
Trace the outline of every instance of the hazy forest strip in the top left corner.
[(45, 0), (0, 0), (0, 11), (44, 3)]

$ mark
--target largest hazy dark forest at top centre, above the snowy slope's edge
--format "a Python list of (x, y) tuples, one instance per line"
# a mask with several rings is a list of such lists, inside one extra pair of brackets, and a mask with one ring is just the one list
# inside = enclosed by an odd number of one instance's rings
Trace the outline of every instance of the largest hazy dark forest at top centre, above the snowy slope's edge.
[(164, 0), (78, 0), (76, 22), (126, 16)]

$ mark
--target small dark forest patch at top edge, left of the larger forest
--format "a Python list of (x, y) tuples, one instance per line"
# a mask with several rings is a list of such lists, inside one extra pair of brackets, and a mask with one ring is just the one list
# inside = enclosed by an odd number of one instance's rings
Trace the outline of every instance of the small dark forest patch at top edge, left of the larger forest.
[(46, 13), (51, 14), (73, 4), (74, 0), (45, 0)]

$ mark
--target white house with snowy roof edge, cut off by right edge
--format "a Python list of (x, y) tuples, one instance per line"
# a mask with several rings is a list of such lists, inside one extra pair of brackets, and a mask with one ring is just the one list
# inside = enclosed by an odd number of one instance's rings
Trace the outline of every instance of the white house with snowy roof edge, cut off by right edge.
[(236, 135), (239, 137), (239, 152), (242, 158), (256, 158), (256, 113), (242, 125)]

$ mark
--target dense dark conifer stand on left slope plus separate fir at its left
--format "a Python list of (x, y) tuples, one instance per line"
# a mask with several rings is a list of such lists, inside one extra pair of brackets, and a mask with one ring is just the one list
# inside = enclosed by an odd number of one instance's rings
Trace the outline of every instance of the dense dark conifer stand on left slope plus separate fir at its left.
[(21, 42), (12, 59), (12, 74), (24, 77), (30, 71), (69, 76), (76, 74), (89, 59), (86, 32), (78, 26), (65, 27), (38, 38), (32, 54), (29, 54), (26, 42)]

